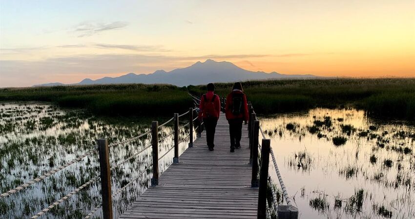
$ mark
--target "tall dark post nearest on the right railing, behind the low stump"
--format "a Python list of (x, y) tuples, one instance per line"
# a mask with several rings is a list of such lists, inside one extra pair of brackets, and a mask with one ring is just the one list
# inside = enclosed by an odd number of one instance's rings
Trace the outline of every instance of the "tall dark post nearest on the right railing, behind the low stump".
[(258, 219), (266, 218), (267, 190), (268, 190), (268, 164), (270, 162), (270, 139), (262, 139), (261, 169), (259, 170), (258, 189)]

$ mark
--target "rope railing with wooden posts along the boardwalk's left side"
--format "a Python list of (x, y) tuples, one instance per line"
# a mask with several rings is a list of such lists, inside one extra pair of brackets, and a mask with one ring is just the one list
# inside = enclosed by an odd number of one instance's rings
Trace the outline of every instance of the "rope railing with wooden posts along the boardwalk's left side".
[[(197, 97), (193, 97), (192, 96), (192, 98), (195, 99), (195, 101), (200, 101)], [(177, 120), (175, 121), (175, 123), (177, 124), (178, 123), (178, 118), (183, 117), (183, 116), (189, 114), (189, 122), (188, 123), (186, 123), (185, 125), (181, 126), (180, 128), (178, 128), (178, 126), (175, 125), (175, 129), (172, 132), (170, 132), (169, 134), (165, 135), (164, 137), (162, 137), (161, 139), (159, 139), (159, 140), (156, 141), (156, 142), (161, 142), (161, 141), (165, 140), (166, 138), (170, 137), (173, 134), (179, 134), (180, 133), (179, 130), (181, 130), (183, 128), (186, 128), (186, 127), (189, 127), (189, 133), (184, 138), (181, 138), (180, 140), (178, 140), (178, 135), (175, 135), (175, 137), (174, 137), (175, 138), (175, 142), (176, 142), (175, 143), (175, 146), (169, 148), (166, 151), (165, 154), (163, 154), (162, 156), (159, 157), (158, 156), (158, 153), (156, 153), (156, 155), (157, 155), (157, 161), (163, 159), (173, 148), (175, 148), (175, 158), (173, 158), (173, 163), (175, 163), (175, 159), (178, 161), (178, 155), (177, 155), (178, 154), (178, 144), (185, 142), (187, 139), (189, 139), (189, 136), (190, 136), (189, 147), (192, 146), (193, 132), (195, 130), (194, 129), (193, 122), (195, 122), (198, 119), (197, 117), (196, 118), (193, 118), (194, 112), (196, 110), (198, 110), (197, 107), (196, 108), (193, 108), (193, 109), (190, 108), (188, 111), (186, 111), (183, 114), (180, 114), (180, 115), (175, 114), (175, 117), (170, 118), (169, 120), (167, 120), (165, 123), (161, 124), (160, 126), (157, 126), (157, 125), (155, 126), (156, 129), (162, 128), (166, 124), (168, 124), (169, 122), (175, 120), (175, 118), (177, 118)], [(197, 126), (198, 126), (197, 128), (199, 128), (199, 132), (201, 132), (201, 126), (202, 125), (203, 125), (203, 122), (202, 123), (197, 123)], [(100, 161), (101, 174), (93, 177), (91, 180), (89, 180), (88, 182), (86, 182), (83, 185), (79, 186), (78, 188), (74, 189), (72, 192), (68, 193), (67, 195), (65, 195), (64, 197), (62, 197), (60, 200), (55, 201), (54, 203), (52, 203), (48, 207), (42, 209), (42, 211), (40, 211), (37, 214), (35, 214), (31, 219), (37, 219), (37, 218), (41, 217), (46, 212), (48, 212), (51, 209), (53, 209), (54, 207), (58, 206), (63, 201), (69, 199), (71, 196), (77, 194), (82, 189), (84, 189), (88, 185), (96, 182), (100, 178), (103, 181), (102, 182), (102, 189), (101, 189), (102, 197), (103, 197), (102, 202), (100, 202), (95, 208), (93, 208), (91, 210), (91, 212), (85, 216), (85, 218), (86, 219), (91, 218), (101, 207), (103, 208), (103, 215), (104, 215), (104, 218), (105, 218), (106, 216), (112, 214), (112, 213), (109, 213), (109, 212), (112, 212), (112, 208), (109, 209), (108, 206), (110, 206), (110, 204), (104, 204), (104, 203), (111, 203), (112, 202), (111, 201), (112, 200), (112, 197), (115, 197), (118, 194), (120, 194), (122, 191), (125, 191), (125, 189), (127, 188), (127, 186), (131, 185), (133, 182), (136, 181), (136, 180), (133, 180), (133, 181), (125, 184), (122, 188), (118, 189), (114, 194), (111, 194), (111, 180), (110, 180), (110, 178), (111, 178), (111, 171), (114, 170), (114, 169), (116, 169), (116, 168), (118, 168), (118, 167), (120, 167), (121, 165), (125, 164), (126, 162), (131, 161), (135, 157), (141, 155), (142, 153), (145, 152), (145, 150), (147, 150), (148, 148), (150, 148), (152, 146), (153, 146), (153, 155), (154, 155), (154, 141), (152, 141), (153, 142), (152, 145), (143, 146), (143, 148), (141, 150), (139, 150), (138, 152), (136, 152), (133, 155), (125, 158), (123, 161), (119, 161), (118, 163), (114, 163), (114, 164), (109, 164), (109, 150), (108, 149), (110, 147), (124, 145), (124, 144), (130, 143), (130, 142), (136, 141), (136, 140), (138, 140), (138, 139), (140, 139), (140, 138), (142, 138), (142, 137), (144, 137), (144, 136), (146, 136), (146, 135), (148, 135), (150, 133), (152, 133), (152, 136), (153, 136), (153, 139), (154, 139), (154, 133), (156, 133), (156, 136), (157, 136), (157, 133), (158, 133), (157, 130), (155, 132), (154, 131), (155, 130), (154, 130), (154, 126), (153, 126), (153, 128), (151, 128), (150, 130), (145, 131), (144, 133), (141, 133), (138, 136), (135, 136), (135, 137), (132, 137), (132, 138), (129, 138), (129, 139), (125, 139), (125, 140), (120, 141), (120, 142), (111, 143), (111, 144), (108, 144), (106, 139), (97, 140), (98, 141), (98, 146), (96, 146), (95, 148), (93, 148), (93, 149), (87, 151), (86, 153), (84, 153), (84, 154), (76, 157), (75, 159), (67, 162), (66, 164), (63, 164), (63, 165), (61, 165), (61, 166), (59, 166), (59, 167), (57, 167), (57, 168), (55, 168), (53, 170), (50, 170), (50, 171), (46, 172), (42, 176), (40, 176), (40, 177), (38, 177), (36, 179), (33, 179), (32, 181), (29, 181), (27, 183), (21, 184), (20, 186), (14, 188), (14, 189), (11, 189), (11, 190), (9, 190), (7, 192), (4, 192), (3, 194), (0, 194), (0, 198), (7, 197), (7, 196), (9, 196), (9, 195), (11, 195), (13, 193), (16, 193), (17, 191), (20, 191), (20, 190), (22, 190), (22, 189), (30, 186), (31, 184), (40, 182), (40, 181), (44, 180), (45, 178), (51, 176), (52, 174), (57, 173), (58, 171), (60, 171), (60, 170), (62, 170), (64, 168), (70, 166), (71, 164), (75, 164), (76, 162), (81, 161), (86, 156), (92, 155), (93, 153), (95, 153), (95, 152), (98, 151), (99, 152), (99, 155), (100, 155), (99, 156), (100, 157), (99, 158), (99, 161)], [(157, 144), (156, 144), (156, 148), (158, 148)], [(154, 159), (153, 159), (153, 162), (154, 162)], [(158, 166), (158, 162), (156, 164)], [(151, 164), (150, 166), (153, 166), (153, 164)], [(158, 167), (156, 169), (158, 169)], [(154, 177), (154, 168), (153, 168), (153, 177)], [(109, 181), (106, 180), (106, 179), (109, 179)], [(157, 180), (158, 180), (158, 174), (157, 174)], [(104, 183), (104, 182), (106, 182), (106, 183)], [(104, 187), (104, 184), (106, 184), (105, 187)], [(153, 182), (152, 182), (152, 184), (153, 184)], [(108, 195), (104, 196), (104, 193), (105, 194), (109, 194), (109, 197), (108, 197)]]

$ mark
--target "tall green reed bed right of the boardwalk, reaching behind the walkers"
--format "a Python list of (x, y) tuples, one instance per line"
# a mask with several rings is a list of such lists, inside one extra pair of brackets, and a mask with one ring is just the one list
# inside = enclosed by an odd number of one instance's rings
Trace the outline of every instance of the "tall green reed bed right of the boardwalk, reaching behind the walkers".
[[(226, 97), (232, 83), (218, 83)], [(260, 114), (353, 106), (373, 117), (415, 120), (415, 78), (268, 80), (243, 82), (255, 112)], [(206, 86), (189, 86), (202, 93)]]

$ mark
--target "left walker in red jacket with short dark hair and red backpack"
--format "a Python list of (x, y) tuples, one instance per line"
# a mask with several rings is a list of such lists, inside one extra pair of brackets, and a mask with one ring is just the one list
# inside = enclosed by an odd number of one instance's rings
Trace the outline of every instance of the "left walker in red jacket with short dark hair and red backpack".
[(209, 150), (212, 151), (215, 147), (215, 130), (218, 124), (219, 114), (221, 110), (221, 101), (219, 96), (215, 93), (215, 85), (213, 83), (207, 84), (207, 93), (200, 98), (199, 105), (199, 120), (203, 118), (206, 129), (206, 142)]

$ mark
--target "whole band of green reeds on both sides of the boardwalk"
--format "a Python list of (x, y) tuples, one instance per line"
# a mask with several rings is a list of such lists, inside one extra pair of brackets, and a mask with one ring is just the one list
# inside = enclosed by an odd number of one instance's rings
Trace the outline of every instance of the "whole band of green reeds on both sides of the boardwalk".
[[(353, 106), (373, 117), (415, 120), (415, 78), (267, 80), (243, 82), (243, 86), (258, 114)], [(216, 93), (226, 96), (231, 88), (232, 83), (217, 83)], [(6, 88), (0, 89), (0, 101), (49, 101), (106, 116), (163, 116), (192, 106), (187, 91), (200, 95), (206, 85)]]

